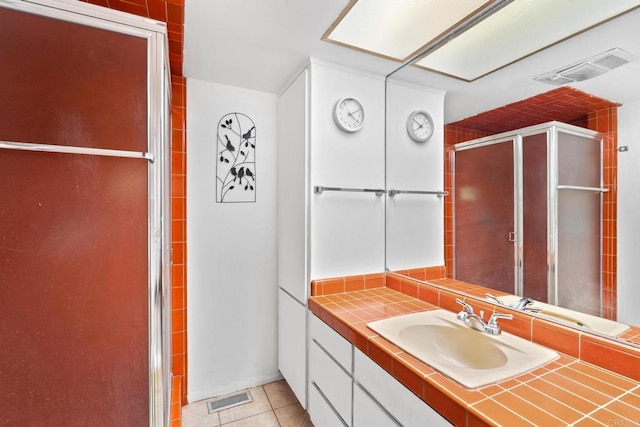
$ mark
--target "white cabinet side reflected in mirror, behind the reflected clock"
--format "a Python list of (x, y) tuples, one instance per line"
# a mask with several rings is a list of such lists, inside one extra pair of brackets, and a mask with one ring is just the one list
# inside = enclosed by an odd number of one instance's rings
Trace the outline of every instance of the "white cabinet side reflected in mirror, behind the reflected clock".
[[(435, 129), (422, 143), (406, 131), (407, 117), (416, 110), (429, 113)], [(444, 92), (388, 82), (387, 189), (444, 190)], [(444, 265), (444, 198), (398, 194), (387, 203), (387, 267)]]

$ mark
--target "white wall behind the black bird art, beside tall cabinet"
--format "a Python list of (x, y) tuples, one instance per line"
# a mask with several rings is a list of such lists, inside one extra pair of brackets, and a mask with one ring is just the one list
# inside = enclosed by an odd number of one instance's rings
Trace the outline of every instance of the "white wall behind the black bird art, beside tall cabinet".
[[(187, 84), (189, 401), (279, 379), (277, 97), (195, 79)], [(216, 128), (255, 122), (255, 203), (216, 203)]]

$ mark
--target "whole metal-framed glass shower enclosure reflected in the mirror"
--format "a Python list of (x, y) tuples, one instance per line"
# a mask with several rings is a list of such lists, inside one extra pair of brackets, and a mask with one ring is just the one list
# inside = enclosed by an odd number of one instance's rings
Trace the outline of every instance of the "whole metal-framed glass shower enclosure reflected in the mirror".
[(559, 122), (454, 148), (454, 276), (601, 311), (602, 136)]

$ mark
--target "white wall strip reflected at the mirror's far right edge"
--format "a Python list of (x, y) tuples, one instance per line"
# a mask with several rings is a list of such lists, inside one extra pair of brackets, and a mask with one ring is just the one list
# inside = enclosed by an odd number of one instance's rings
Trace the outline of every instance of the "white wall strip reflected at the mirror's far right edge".
[(640, 325), (640, 100), (618, 109), (618, 321)]

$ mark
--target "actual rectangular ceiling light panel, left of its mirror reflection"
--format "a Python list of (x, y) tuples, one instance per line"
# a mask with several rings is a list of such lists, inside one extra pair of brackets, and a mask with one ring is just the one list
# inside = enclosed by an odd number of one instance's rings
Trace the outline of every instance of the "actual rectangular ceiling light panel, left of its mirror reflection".
[(351, 0), (322, 39), (403, 62), (491, 3)]

